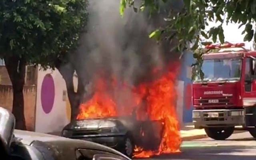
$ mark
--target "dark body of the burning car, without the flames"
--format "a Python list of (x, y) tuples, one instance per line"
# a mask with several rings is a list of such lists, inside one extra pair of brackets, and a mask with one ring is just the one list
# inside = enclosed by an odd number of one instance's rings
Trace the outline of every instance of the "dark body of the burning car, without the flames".
[(129, 116), (95, 118), (71, 122), (62, 136), (103, 144), (131, 157), (135, 146), (157, 149), (163, 125), (161, 121), (138, 121)]

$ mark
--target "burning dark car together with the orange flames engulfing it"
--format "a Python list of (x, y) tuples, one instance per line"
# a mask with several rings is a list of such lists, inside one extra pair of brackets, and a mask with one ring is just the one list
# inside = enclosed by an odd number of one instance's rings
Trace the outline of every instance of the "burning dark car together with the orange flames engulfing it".
[(94, 75), (88, 89), (92, 96), (85, 96), (76, 120), (64, 127), (62, 136), (104, 144), (136, 158), (180, 152), (178, 69), (173, 66), (156, 68), (154, 79), (138, 84), (107, 72)]

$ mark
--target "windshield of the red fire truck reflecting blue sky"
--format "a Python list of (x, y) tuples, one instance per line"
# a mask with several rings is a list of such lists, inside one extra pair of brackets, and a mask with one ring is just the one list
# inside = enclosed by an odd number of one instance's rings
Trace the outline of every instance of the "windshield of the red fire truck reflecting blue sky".
[(240, 58), (208, 59), (202, 64), (203, 80), (197, 76), (195, 82), (240, 80), (242, 60)]

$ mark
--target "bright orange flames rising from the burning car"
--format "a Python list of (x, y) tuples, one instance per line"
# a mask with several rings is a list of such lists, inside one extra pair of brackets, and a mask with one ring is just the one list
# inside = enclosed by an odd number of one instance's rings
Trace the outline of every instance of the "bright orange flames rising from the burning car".
[[(140, 146), (136, 146), (134, 157), (146, 158), (153, 155), (168, 154), (180, 152), (180, 128), (176, 116), (176, 90), (175, 82), (179, 71), (178, 63), (172, 64), (167, 71), (154, 69), (153, 75), (157, 75), (155, 80), (144, 82), (138, 86), (128, 87), (122, 85), (122, 89), (132, 90), (133, 96), (129, 96), (130, 106), (118, 106), (117, 100), (108, 92), (106, 82), (99, 79), (96, 82), (95, 94), (89, 101), (81, 104), (80, 114), (77, 119), (98, 118), (120, 116), (123, 114), (130, 115), (134, 106), (136, 118), (138, 120), (163, 120), (164, 131), (158, 150), (146, 151)], [(159, 76), (160, 75), (160, 76)], [(115, 88), (115, 83), (111, 83)], [(132, 89), (131, 89), (132, 88)], [(144, 135), (144, 132), (141, 133)]]

